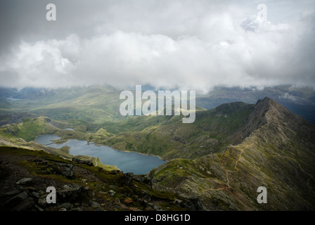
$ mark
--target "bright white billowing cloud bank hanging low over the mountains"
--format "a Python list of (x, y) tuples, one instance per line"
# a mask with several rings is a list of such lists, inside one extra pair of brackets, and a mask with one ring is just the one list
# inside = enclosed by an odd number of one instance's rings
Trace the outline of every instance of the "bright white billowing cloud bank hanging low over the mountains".
[(98, 11), (90, 17), (89, 35), (71, 30), (63, 38), (21, 41), (2, 60), (1, 83), (150, 84), (203, 92), (214, 86), (315, 84), (314, 11), (303, 10), (295, 23), (272, 23), (242, 6), (181, 2), (113, 4), (105, 9), (109, 21)]

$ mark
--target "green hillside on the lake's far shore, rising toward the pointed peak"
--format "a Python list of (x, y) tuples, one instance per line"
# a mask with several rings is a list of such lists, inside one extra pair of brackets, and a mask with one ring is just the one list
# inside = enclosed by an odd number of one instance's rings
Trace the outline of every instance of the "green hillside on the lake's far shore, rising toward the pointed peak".
[(200, 110), (196, 120), (183, 124), (181, 116), (141, 116), (104, 127), (127, 130), (106, 139), (95, 139), (120, 150), (160, 155), (172, 158), (198, 158), (220, 152), (231, 143), (239, 143), (240, 130), (251, 113), (253, 105), (227, 103), (212, 110)]

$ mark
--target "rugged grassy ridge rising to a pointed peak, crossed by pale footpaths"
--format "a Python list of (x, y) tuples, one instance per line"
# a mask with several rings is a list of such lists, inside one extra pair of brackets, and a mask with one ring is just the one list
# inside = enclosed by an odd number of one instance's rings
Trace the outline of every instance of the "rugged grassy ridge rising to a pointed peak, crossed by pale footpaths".
[[(315, 210), (315, 126), (276, 101), (258, 101), (224, 153), (172, 160), (150, 173), (157, 190), (195, 199), (200, 210)], [(267, 203), (257, 203), (266, 187)]]

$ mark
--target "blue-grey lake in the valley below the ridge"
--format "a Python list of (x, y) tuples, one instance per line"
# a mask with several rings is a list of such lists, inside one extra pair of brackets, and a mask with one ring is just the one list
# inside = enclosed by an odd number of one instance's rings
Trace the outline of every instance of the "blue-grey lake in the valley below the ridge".
[(51, 148), (70, 147), (71, 155), (89, 155), (100, 158), (105, 165), (115, 165), (124, 173), (133, 172), (134, 174), (147, 174), (151, 169), (165, 163), (157, 156), (142, 155), (135, 152), (124, 152), (115, 150), (108, 146), (96, 146), (94, 143), (88, 145), (87, 141), (70, 139), (65, 143), (53, 143), (51, 140), (60, 139), (59, 136), (46, 134), (38, 136), (34, 141), (44, 144)]

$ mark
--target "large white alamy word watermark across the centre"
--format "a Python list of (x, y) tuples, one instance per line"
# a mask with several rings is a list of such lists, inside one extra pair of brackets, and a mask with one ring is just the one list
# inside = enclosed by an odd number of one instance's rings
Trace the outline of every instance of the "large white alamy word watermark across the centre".
[[(122, 91), (120, 99), (126, 99), (120, 105), (121, 115), (172, 115), (174, 100), (174, 115), (184, 115), (183, 123), (195, 121), (195, 91), (189, 91), (189, 100), (188, 91), (158, 91), (158, 110), (155, 92), (142, 93), (141, 85), (136, 85), (135, 98), (132, 91)], [(143, 100), (147, 101), (142, 104)]]

